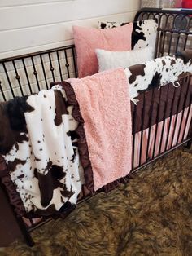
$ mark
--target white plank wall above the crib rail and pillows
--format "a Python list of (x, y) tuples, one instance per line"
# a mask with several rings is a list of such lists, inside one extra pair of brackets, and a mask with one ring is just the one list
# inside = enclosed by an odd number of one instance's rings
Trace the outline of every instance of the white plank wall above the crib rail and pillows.
[(140, 0), (0, 0), (0, 59), (72, 42), (72, 24), (131, 21)]

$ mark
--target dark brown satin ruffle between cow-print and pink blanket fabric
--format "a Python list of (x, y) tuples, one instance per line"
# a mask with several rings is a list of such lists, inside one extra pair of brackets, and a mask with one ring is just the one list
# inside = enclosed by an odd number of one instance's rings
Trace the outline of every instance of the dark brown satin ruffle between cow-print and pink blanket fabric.
[[(93, 170), (91, 167), (91, 162), (89, 160), (89, 149), (86, 142), (85, 130), (84, 130), (84, 120), (80, 113), (80, 107), (76, 100), (75, 91), (73, 90), (72, 86), (68, 82), (58, 82), (55, 84), (59, 84), (63, 86), (65, 93), (68, 98), (68, 104), (73, 106), (72, 110), (72, 117), (78, 121), (79, 125), (76, 128), (76, 133), (79, 136), (78, 139), (78, 149), (81, 159), (81, 165), (84, 169), (84, 178), (85, 178), (85, 186), (89, 189), (89, 191), (93, 194), (94, 193), (94, 179), (93, 179)], [(54, 84), (52, 83), (51, 86)]]

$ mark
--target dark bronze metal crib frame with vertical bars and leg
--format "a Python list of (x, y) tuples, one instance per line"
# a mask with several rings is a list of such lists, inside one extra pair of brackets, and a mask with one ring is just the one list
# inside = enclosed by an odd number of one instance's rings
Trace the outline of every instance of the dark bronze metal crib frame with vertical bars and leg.
[[(142, 19), (148, 19), (148, 18), (158, 18), (159, 20), (159, 26), (158, 26), (158, 36), (157, 36), (157, 42), (156, 42), (156, 51), (155, 51), (155, 55), (156, 56), (162, 56), (164, 55), (164, 42), (165, 42), (165, 38), (166, 38), (166, 34), (170, 33), (171, 38), (172, 38), (172, 34), (177, 34), (178, 38), (181, 37), (181, 34), (185, 35), (185, 42), (182, 45), (182, 50), (185, 50), (187, 47), (187, 42), (189, 39), (189, 36), (192, 35), (192, 32), (190, 31), (190, 29), (192, 28), (192, 21), (191, 21), (191, 17), (190, 15), (192, 15), (192, 10), (181, 10), (181, 11), (177, 11), (177, 10), (164, 10), (164, 9), (154, 9), (154, 8), (143, 8), (142, 10), (138, 11), (136, 16), (135, 16), (135, 21), (136, 20), (142, 20)], [(166, 24), (168, 23), (168, 17), (172, 16), (173, 19), (173, 26), (172, 29), (167, 29)], [(181, 28), (178, 29), (177, 27), (175, 27), (175, 20), (177, 19), (177, 17), (180, 17), (181, 20), (188, 20), (188, 23), (186, 24), (185, 29)], [(165, 23), (164, 26), (162, 27), (162, 19), (165, 19)], [(175, 50), (177, 51), (179, 49), (179, 40), (177, 39), (176, 43), (176, 48)], [(162, 46), (163, 45), (163, 46)], [(170, 53), (171, 50), (171, 45), (172, 45), (172, 40), (170, 40), (169, 45), (168, 45), (168, 54)], [(2, 68), (4, 70), (4, 73), (7, 77), (7, 85), (9, 86), (9, 89), (11, 91), (11, 97), (14, 98), (15, 97), (15, 92), (14, 92), (14, 88), (12, 86), (11, 83), (11, 78), (10, 78), (10, 74), (9, 71), (7, 70), (7, 64), (12, 64), (13, 68), (14, 68), (14, 72), (15, 72), (15, 81), (18, 84), (18, 87), (20, 88), (20, 95), (24, 95), (24, 90), (23, 90), (23, 82), (22, 82), (22, 77), (20, 76), (20, 69), (17, 68), (17, 60), (20, 60), (23, 64), (23, 69), (24, 69), (24, 74), (25, 74), (25, 79), (27, 80), (27, 86), (29, 89), (30, 94), (32, 94), (34, 92), (33, 90), (33, 86), (31, 86), (31, 81), (30, 81), (30, 75), (28, 73), (28, 68), (25, 64), (26, 60), (30, 60), (31, 61), (31, 66), (33, 67), (33, 76), (35, 77), (35, 80), (37, 82), (37, 90), (41, 90), (41, 85), (40, 85), (40, 74), (37, 71), (37, 67), (36, 67), (36, 58), (39, 58), (40, 60), (40, 64), (41, 64), (41, 75), (42, 77), (44, 77), (44, 81), (46, 84), (46, 88), (49, 88), (48, 85), (48, 79), (47, 79), (47, 73), (46, 73), (46, 68), (45, 68), (45, 64), (43, 62), (43, 58), (44, 56), (48, 56), (48, 60), (49, 60), (49, 64), (50, 64), (50, 73), (51, 73), (51, 77), (52, 77), (52, 81), (55, 81), (55, 69), (57, 68), (57, 71), (59, 72), (59, 80), (63, 80), (63, 73), (62, 70), (63, 68), (66, 68), (66, 73), (68, 75), (68, 77), (71, 77), (71, 73), (70, 73), (70, 64), (69, 64), (69, 60), (68, 60), (68, 52), (71, 52), (71, 57), (72, 57), (72, 65), (73, 65), (73, 69), (74, 69), (74, 73), (75, 73), (75, 77), (77, 77), (77, 68), (76, 68), (76, 52), (75, 52), (75, 46), (74, 45), (70, 45), (70, 46), (63, 46), (63, 47), (59, 47), (59, 48), (55, 48), (55, 49), (50, 49), (50, 50), (46, 50), (46, 51), (38, 51), (36, 53), (32, 53), (32, 54), (27, 54), (27, 55), (20, 55), (20, 56), (15, 56), (15, 57), (11, 57), (11, 58), (6, 58), (3, 60), (0, 60), (0, 65), (2, 65)], [(56, 55), (56, 60), (57, 60), (57, 66), (55, 67), (55, 65), (53, 64), (53, 60), (52, 60), (52, 55), (55, 54)], [(62, 67), (60, 60), (59, 60), (59, 56), (60, 55), (64, 56), (64, 60), (65, 60), (65, 64)], [(192, 86), (192, 75), (189, 74), (185, 74), (185, 77), (181, 78), (181, 86), (183, 86), (184, 84), (187, 84), (187, 86)], [(168, 85), (169, 88), (170, 85)], [(188, 87), (189, 88), (189, 87)], [(154, 94), (154, 90), (155, 88), (152, 88), (152, 94)], [(161, 89), (160, 89), (161, 90)], [(176, 89), (175, 89), (176, 90)], [(174, 91), (175, 91), (174, 90)], [(2, 99), (4, 101), (7, 101), (7, 96), (5, 94), (5, 91), (2, 90), (2, 79), (0, 77), (0, 94), (2, 94)], [(161, 93), (160, 93), (161, 95)], [(189, 96), (189, 95), (188, 95)], [(187, 97), (186, 95), (185, 97), (185, 101), (183, 104), (183, 109), (185, 109), (185, 104), (186, 104), (186, 100)], [(159, 96), (160, 98), (161, 96)], [(151, 115), (153, 112), (153, 97), (151, 99)], [(174, 98), (172, 100), (172, 106), (174, 104)], [(179, 104), (179, 103), (177, 103)], [(190, 95), (190, 105), (192, 104), (192, 95)], [(145, 92), (143, 93), (143, 105), (145, 105)], [(164, 114), (166, 112), (166, 108), (167, 106), (165, 106), (164, 108)], [(159, 112), (159, 106), (157, 111)], [(135, 148), (135, 132), (134, 132), (134, 127), (135, 127), (135, 123), (136, 123), (136, 113), (137, 113), (137, 106), (135, 105), (134, 107), (134, 112), (133, 112), (133, 152), (134, 152), (134, 148)], [(142, 130), (141, 133), (143, 135), (143, 119), (144, 119), (144, 108), (142, 110)], [(186, 129), (186, 124), (188, 121), (190, 115), (190, 108), (188, 108), (188, 113), (187, 113), (187, 117), (186, 117), (186, 121), (185, 121), (185, 129)], [(178, 106), (177, 106), (177, 113), (176, 113), (176, 118), (178, 116)], [(181, 117), (181, 120), (183, 120), (183, 116)], [(172, 118), (172, 115), (171, 115)], [(164, 116), (164, 121), (165, 121), (165, 116)], [(158, 123), (158, 117), (156, 120), (156, 123)], [(171, 121), (170, 121), (171, 123)], [(164, 126), (163, 126), (163, 130), (162, 130), (162, 134), (161, 134), (161, 139), (160, 139), (160, 146), (159, 146), (159, 155), (155, 157), (155, 146), (156, 146), (156, 137), (157, 137), (157, 126), (156, 126), (156, 130), (155, 130), (155, 143), (154, 143), (154, 148), (153, 148), (153, 157), (151, 159), (147, 158), (147, 154), (148, 154), (148, 150), (149, 150), (149, 141), (150, 141), (150, 135), (151, 135), (151, 117), (149, 118), (149, 136), (148, 136), (148, 142), (147, 142), (147, 150), (146, 150), (146, 162), (144, 164), (142, 164), (141, 158), (142, 158), (142, 143), (140, 145), (140, 156), (139, 156), (139, 166), (137, 166), (137, 168), (134, 168), (132, 166), (132, 173), (137, 172), (137, 170), (142, 169), (143, 167), (149, 165), (151, 162), (155, 161), (156, 159), (158, 159), (159, 157), (163, 157), (164, 155), (166, 155), (168, 152), (171, 152), (172, 150), (180, 147), (183, 144), (188, 145), (188, 147), (190, 147), (191, 145), (191, 140), (192, 137), (191, 135), (188, 136), (188, 138), (184, 139), (184, 135), (185, 135), (185, 129), (184, 129), (184, 133), (182, 135), (182, 141), (181, 143), (178, 143), (178, 138), (180, 136), (181, 133), (181, 126), (179, 127), (179, 135), (177, 138), (177, 145), (174, 147), (171, 147), (170, 149), (167, 149), (167, 143), (168, 140), (166, 142), (166, 146), (164, 149), (164, 152), (160, 153), (160, 148), (161, 148), (161, 143), (162, 143), (162, 137), (164, 134)], [(169, 130), (168, 130), (168, 135), (170, 132), (170, 124), (169, 124)], [(173, 131), (173, 136), (172, 139), (174, 137), (175, 134), (175, 129)], [(142, 135), (141, 135), (141, 141), (142, 141)], [(134, 154), (133, 154), (133, 159), (132, 162), (134, 162)], [(129, 177), (125, 177), (124, 178), (124, 182), (127, 182), (129, 180)], [(2, 186), (3, 187), (3, 186)], [(84, 188), (82, 189), (81, 192), (81, 199), (78, 201), (78, 203), (85, 201), (89, 198), (89, 194), (86, 194)], [(42, 224), (46, 223), (47, 221), (50, 220), (50, 218), (44, 218), (41, 223), (38, 223), (36, 225), (33, 224), (32, 220), (32, 227), (27, 227), (22, 218), (18, 218), (15, 216), (15, 218), (17, 219), (19, 225), (20, 225), (20, 229), (24, 234), (24, 238), (25, 241), (28, 243), (28, 245), (33, 246), (33, 239), (30, 236), (30, 232), (33, 231), (34, 228), (40, 227)]]

